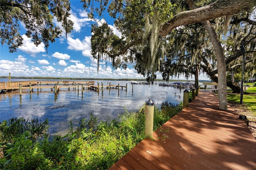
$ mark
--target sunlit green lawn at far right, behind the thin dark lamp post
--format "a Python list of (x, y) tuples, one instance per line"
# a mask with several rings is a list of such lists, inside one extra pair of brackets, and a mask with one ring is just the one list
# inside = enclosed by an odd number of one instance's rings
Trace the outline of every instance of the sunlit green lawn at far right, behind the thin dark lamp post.
[[(246, 89), (243, 95), (243, 104), (256, 115), (256, 87), (250, 87)], [(240, 94), (228, 94), (228, 101), (240, 103)]]

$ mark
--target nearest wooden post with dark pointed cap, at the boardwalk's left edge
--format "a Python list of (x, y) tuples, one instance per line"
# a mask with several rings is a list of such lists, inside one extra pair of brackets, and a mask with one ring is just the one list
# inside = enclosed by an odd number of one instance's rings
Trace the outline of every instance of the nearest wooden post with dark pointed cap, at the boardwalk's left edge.
[(146, 102), (146, 120), (145, 120), (145, 136), (152, 137), (153, 134), (153, 124), (154, 124), (154, 102), (149, 99)]

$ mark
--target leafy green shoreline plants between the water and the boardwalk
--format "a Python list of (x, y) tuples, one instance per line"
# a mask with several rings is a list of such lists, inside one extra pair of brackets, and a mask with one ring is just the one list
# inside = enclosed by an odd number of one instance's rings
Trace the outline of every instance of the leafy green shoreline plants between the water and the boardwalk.
[[(71, 123), (66, 136), (42, 134), (47, 121), (29, 122), (23, 118), (3, 121), (0, 169), (108, 169), (145, 138), (144, 108), (136, 113), (123, 113), (118, 121), (98, 123), (91, 115), (88, 121), (81, 119), (76, 130)], [(154, 130), (178, 113), (182, 105), (163, 103), (161, 108), (154, 110)], [(27, 128), (32, 122), (34, 127), (41, 127), (38, 134), (42, 138), (34, 140), (34, 131)], [(9, 132), (11, 127), (14, 130)]]

